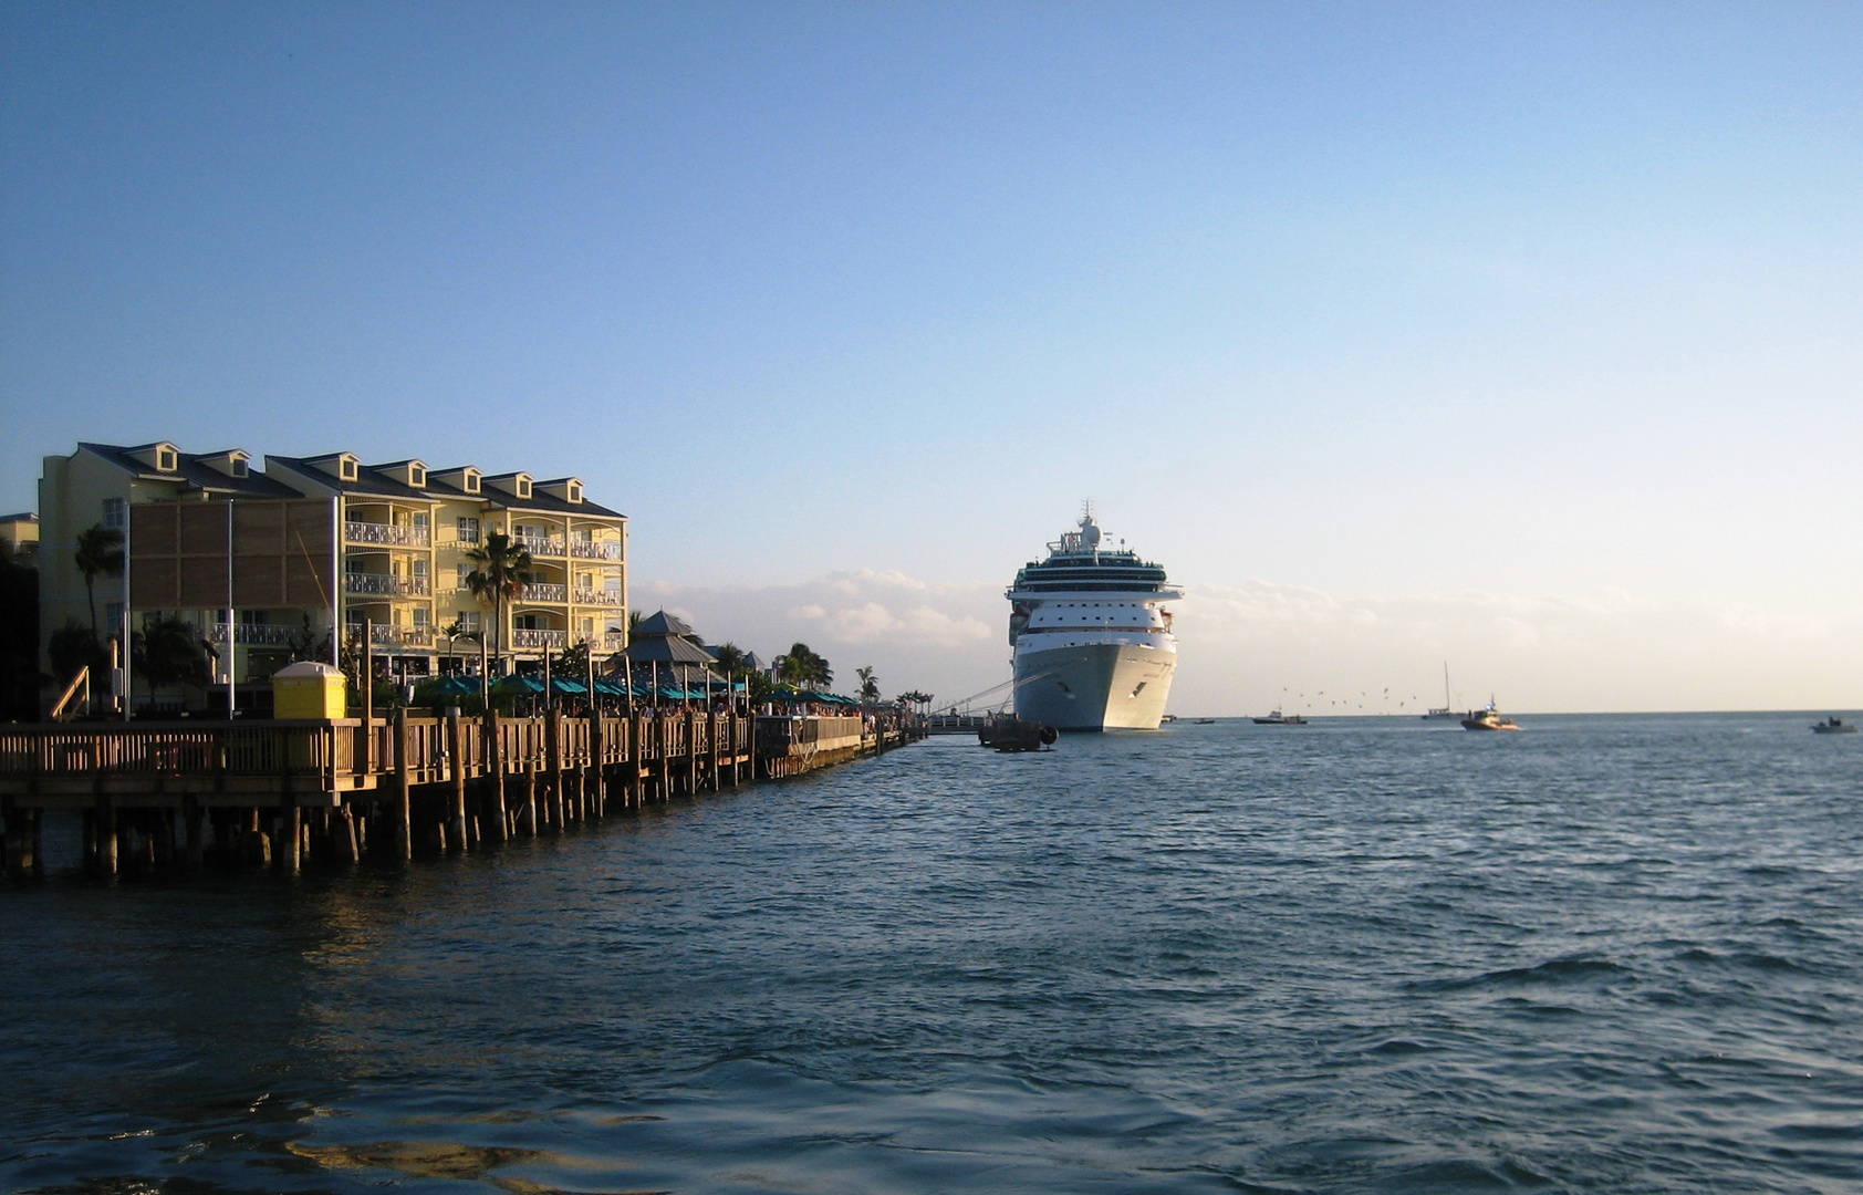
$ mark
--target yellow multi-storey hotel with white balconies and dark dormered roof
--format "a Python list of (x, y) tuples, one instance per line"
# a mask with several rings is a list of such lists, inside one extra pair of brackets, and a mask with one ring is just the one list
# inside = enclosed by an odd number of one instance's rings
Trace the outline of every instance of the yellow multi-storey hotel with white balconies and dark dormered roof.
[[(328, 500), (335, 528), (337, 593), (322, 608), (237, 610), (233, 673), (263, 682), (304, 638), (306, 617), (319, 639), (335, 623), (345, 638), (371, 625), (374, 654), (391, 671), (427, 675), (438, 656), (473, 667), (477, 636), (492, 611), (466, 587), (469, 552), (505, 533), (531, 554), (531, 584), (507, 602), (494, 634), (507, 658), (587, 643), (605, 656), (624, 649), (628, 626), (628, 520), (587, 498), (578, 477), (538, 481), (531, 474), (484, 474), (475, 466), (428, 468), (423, 460), (365, 464), (356, 453), (266, 457), (263, 474), (244, 451), (183, 453), (173, 444), (116, 447), (80, 444), (71, 457), (47, 457), (39, 483), (41, 664), (52, 630), (88, 625), (82, 578), (71, 554), (78, 531), (102, 522), (129, 528), (125, 507), (142, 501)], [(97, 578), (101, 636), (129, 619), (123, 580)], [(166, 611), (196, 623), (214, 645), (227, 639), (225, 610)], [(138, 615), (140, 617), (140, 615)], [(123, 619), (123, 623), (117, 623)], [(138, 623), (140, 628), (140, 623)]]

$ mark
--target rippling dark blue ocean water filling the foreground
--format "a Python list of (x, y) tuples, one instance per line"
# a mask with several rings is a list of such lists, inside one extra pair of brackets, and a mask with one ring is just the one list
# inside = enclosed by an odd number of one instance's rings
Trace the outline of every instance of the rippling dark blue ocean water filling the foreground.
[(0, 886), (0, 1188), (1857, 1191), (1863, 735), (1811, 720), (946, 738)]

